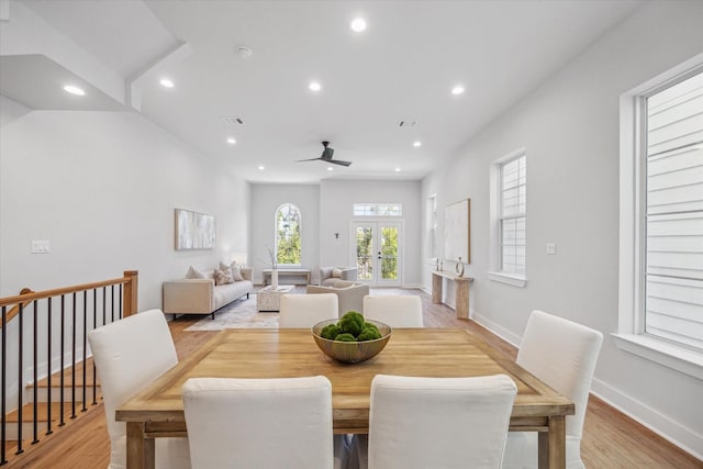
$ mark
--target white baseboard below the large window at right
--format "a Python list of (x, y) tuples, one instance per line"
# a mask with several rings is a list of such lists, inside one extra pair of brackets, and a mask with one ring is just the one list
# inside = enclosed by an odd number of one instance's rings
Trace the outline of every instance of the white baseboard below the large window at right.
[(693, 429), (684, 427), (596, 378), (593, 378), (591, 393), (684, 451), (703, 460), (703, 436)]

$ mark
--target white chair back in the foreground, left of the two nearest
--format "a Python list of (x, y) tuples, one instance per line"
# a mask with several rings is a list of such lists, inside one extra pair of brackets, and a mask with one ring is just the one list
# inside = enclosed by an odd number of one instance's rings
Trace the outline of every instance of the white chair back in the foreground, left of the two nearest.
[(194, 469), (333, 467), (325, 377), (193, 378), (182, 395)]

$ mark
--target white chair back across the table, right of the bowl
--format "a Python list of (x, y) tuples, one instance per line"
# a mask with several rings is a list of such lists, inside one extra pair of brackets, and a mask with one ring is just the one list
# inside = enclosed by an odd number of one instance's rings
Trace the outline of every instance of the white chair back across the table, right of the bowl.
[(364, 297), (364, 317), (391, 327), (422, 327), (422, 301), (414, 294)]

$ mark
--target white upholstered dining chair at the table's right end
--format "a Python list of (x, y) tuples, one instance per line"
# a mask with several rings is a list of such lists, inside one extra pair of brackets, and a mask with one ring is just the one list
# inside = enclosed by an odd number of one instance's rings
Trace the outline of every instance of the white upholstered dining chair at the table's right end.
[[(576, 413), (567, 415), (567, 468), (583, 468), (581, 434), (589, 390), (603, 334), (581, 324), (533, 311), (527, 321), (517, 365), (573, 401)], [(537, 433), (511, 432), (503, 468), (537, 467)]]

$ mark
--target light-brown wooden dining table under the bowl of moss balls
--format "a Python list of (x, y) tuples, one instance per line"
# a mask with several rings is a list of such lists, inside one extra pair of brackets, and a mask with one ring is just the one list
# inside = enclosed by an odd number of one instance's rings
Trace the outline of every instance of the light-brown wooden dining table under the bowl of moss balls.
[[(224, 330), (118, 407), (126, 422), (127, 468), (154, 467), (154, 438), (187, 436), (181, 388), (189, 378), (288, 378), (332, 382), (335, 434), (366, 434), (376, 375), (476, 377), (504, 373), (517, 386), (510, 429), (539, 432), (539, 467), (566, 465), (566, 416), (573, 402), (462, 328), (397, 328), (386, 348), (359, 364), (333, 360), (310, 330)], [(468, 425), (468, 423), (467, 423)]]

